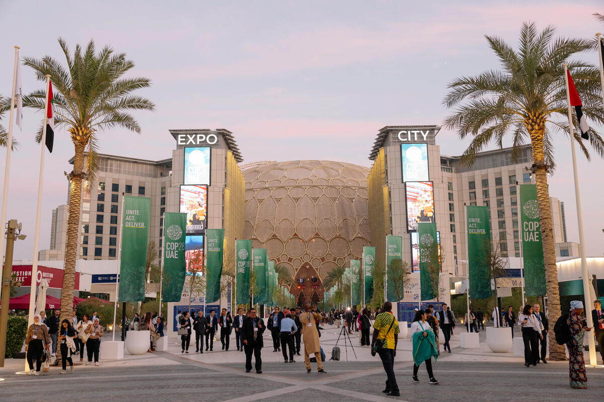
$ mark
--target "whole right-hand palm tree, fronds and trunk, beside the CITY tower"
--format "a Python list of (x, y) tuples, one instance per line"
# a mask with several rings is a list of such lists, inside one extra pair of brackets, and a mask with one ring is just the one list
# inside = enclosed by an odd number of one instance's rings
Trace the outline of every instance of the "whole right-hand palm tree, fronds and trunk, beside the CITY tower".
[[(555, 28), (547, 27), (538, 33), (533, 22), (524, 22), (520, 31), (519, 49), (515, 51), (503, 39), (486, 36), (490, 48), (501, 63), (500, 70), (490, 70), (474, 77), (456, 78), (449, 84), (449, 93), (443, 103), (457, 105), (445, 125), (457, 128), (460, 138), (473, 136), (463, 154), (467, 165), (491, 140), (503, 146), (503, 139), (510, 134), (513, 142), (512, 157), (517, 159), (519, 146), (530, 139), (533, 166), (537, 184), (539, 219), (545, 259), (547, 281), (548, 319), (555, 322), (560, 315), (560, 297), (556, 271), (556, 252), (551, 225), (550, 198), (547, 173), (554, 169), (554, 149), (551, 139), (554, 133), (568, 134), (567, 97), (563, 63), (568, 67), (580, 93), (583, 110), (588, 118), (602, 124), (602, 98), (600, 98), (599, 70), (582, 61), (568, 60), (577, 52), (590, 49), (588, 39), (553, 39)], [(464, 104), (461, 102), (464, 101)], [(577, 127), (575, 122), (575, 127)], [(602, 156), (604, 142), (590, 128), (590, 143)], [(580, 134), (573, 134), (583, 154), (590, 153), (583, 145)], [(554, 342), (550, 332), (548, 342), (550, 358), (564, 360), (564, 348)]]

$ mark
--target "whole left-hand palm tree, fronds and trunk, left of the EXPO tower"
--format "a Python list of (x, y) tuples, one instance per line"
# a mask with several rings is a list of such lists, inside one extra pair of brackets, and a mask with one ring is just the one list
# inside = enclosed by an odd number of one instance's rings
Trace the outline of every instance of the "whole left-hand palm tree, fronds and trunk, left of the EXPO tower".
[[(141, 127), (129, 111), (155, 110), (155, 105), (149, 99), (131, 95), (137, 89), (149, 87), (150, 80), (124, 77), (134, 67), (133, 61), (126, 59), (126, 54), (116, 54), (109, 46), (97, 53), (94, 40), (86, 48), (76, 45), (73, 53), (65, 40), (59, 38), (59, 45), (65, 54), (66, 66), (49, 55), (41, 59), (25, 57), (24, 64), (34, 70), (40, 81), (46, 82), (46, 75), (50, 75), (55, 91), (54, 124), (67, 127), (74, 144), (74, 168), (68, 175), (69, 215), (61, 294), (61, 318), (67, 318), (71, 314), (79, 249), (82, 184), (84, 180), (94, 178), (98, 134), (114, 127), (140, 133)], [(45, 99), (46, 91), (37, 90), (24, 97), (24, 105), (43, 111)], [(41, 132), (40, 128), (38, 141)], [(86, 159), (85, 151), (88, 151)]]

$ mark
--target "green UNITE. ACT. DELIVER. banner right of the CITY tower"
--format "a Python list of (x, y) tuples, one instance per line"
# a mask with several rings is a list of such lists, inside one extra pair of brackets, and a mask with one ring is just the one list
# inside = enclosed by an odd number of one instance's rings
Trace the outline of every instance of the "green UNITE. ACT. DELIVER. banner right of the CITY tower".
[(466, 216), (470, 297), (484, 299), (492, 294), (490, 289), (489, 207), (468, 206)]

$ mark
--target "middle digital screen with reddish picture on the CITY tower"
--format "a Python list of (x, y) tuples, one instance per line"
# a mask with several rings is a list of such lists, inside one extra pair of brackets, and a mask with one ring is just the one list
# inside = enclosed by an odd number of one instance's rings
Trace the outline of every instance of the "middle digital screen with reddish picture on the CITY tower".
[(417, 222), (436, 222), (432, 181), (407, 181), (407, 230), (417, 230)]

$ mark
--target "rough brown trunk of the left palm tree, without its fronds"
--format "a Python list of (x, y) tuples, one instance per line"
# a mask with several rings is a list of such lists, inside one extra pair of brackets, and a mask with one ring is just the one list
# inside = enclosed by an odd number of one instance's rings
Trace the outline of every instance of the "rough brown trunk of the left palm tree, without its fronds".
[(67, 218), (67, 240), (65, 265), (63, 266), (63, 290), (61, 292), (61, 319), (71, 318), (74, 287), (76, 285), (76, 259), (80, 247), (80, 209), (82, 207), (82, 171), (86, 144), (74, 142), (74, 170), (69, 184), (69, 215)]

